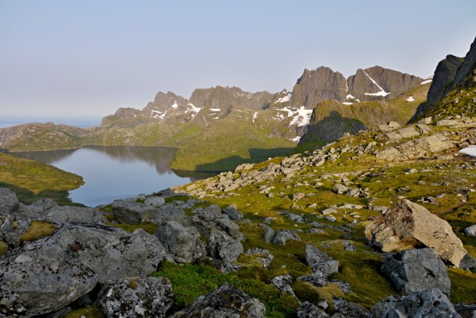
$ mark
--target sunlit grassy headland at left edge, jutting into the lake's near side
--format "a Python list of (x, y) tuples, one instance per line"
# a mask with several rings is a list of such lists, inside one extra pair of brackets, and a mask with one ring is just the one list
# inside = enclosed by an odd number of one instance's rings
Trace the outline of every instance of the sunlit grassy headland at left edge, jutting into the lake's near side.
[(68, 191), (83, 184), (76, 174), (28, 159), (0, 153), (0, 187), (7, 187), (23, 203), (53, 198), (58, 204), (71, 204)]

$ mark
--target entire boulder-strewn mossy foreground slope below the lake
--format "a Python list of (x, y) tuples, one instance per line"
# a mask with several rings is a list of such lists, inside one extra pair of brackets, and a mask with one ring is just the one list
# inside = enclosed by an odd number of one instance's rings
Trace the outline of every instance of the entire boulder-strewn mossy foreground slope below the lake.
[(0, 317), (475, 317), (473, 144), (426, 118), (97, 208), (0, 189)]

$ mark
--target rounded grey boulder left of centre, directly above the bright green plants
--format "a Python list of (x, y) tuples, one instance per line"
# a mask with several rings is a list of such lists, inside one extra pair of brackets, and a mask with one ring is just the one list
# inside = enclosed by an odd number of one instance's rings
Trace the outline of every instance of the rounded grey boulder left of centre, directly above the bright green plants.
[(200, 234), (195, 227), (184, 227), (178, 222), (167, 221), (158, 227), (155, 236), (179, 263), (195, 261), (205, 254)]

